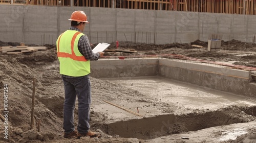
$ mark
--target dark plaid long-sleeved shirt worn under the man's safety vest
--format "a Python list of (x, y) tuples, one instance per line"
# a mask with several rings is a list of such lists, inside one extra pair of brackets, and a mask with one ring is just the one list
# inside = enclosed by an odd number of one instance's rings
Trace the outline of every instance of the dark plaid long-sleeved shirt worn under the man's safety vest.
[[(81, 32), (78, 28), (76, 27), (70, 27), (69, 30), (76, 30)], [(90, 61), (96, 61), (99, 59), (100, 54), (99, 53), (93, 53), (89, 39), (87, 35), (82, 35), (78, 41), (78, 50), (79, 52), (87, 59)], [(67, 75), (62, 75), (62, 77), (65, 78), (73, 78), (71, 76)]]

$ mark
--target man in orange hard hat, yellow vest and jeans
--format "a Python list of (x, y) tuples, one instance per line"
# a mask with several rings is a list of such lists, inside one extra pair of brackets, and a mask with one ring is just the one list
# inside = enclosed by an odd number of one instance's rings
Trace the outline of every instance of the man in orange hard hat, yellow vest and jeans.
[[(57, 41), (59, 70), (65, 88), (63, 109), (63, 129), (65, 138), (81, 136), (99, 137), (100, 134), (90, 131), (90, 60), (98, 60), (103, 52), (93, 53), (87, 35), (82, 32), (87, 21), (83, 11), (72, 13), (71, 27), (60, 34)], [(74, 109), (78, 98), (78, 124), (74, 127)]]

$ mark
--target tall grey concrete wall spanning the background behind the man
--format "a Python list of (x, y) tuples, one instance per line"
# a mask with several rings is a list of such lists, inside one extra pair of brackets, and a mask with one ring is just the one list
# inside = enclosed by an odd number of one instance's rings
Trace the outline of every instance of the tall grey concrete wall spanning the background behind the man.
[(207, 41), (209, 34), (223, 40), (252, 42), (256, 15), (131, 10), (93, 7), (46, 7), (0, 5), (0, 40), (27, 44), (54, 44), (70, 27), (70, 15), (83, 10), (91, 43), (134, 41), (146, 43), (189, 43)]

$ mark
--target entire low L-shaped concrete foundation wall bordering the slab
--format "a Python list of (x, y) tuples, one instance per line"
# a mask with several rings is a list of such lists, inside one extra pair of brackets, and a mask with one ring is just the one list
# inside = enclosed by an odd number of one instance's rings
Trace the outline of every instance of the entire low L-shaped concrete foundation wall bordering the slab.
[(251, 72), (172, 59), (112, 59), (91, 61), (91, 76), (122, 78), (162, 76), (221, 91), (256, 97)]

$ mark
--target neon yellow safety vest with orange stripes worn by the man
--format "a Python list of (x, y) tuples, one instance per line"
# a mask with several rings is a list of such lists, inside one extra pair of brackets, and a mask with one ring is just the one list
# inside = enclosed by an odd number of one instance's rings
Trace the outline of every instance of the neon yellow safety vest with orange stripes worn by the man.
[(90, 61), (78, 50), (78, 41), (82, 35), (75, 30), (67, 30), (59, 35), (56, 46), (61, 75), (81, 77), (91, 73)]

